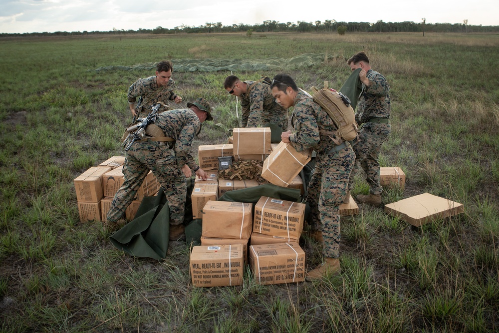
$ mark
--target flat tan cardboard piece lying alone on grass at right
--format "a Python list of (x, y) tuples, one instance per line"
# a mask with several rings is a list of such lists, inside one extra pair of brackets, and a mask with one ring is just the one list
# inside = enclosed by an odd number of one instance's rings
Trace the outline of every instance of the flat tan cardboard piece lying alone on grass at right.
[(460, 203), (430, 193), (423, 193), (387, 204), (385, 211), (419, 227), (434, 219), (463, 213), (464, 208)]

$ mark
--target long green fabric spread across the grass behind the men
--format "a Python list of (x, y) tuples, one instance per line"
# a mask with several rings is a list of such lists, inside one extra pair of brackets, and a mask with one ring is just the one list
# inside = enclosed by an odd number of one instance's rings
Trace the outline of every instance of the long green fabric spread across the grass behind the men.
[[(173, 70), (175, 72), (212, 72), (218, 70), (232, 71), (261, 71), (261, 70), (291, 70), (303, 67), (310, 67), (323, 63), (336, 56), (329, 53), (305, 53), (297, 55), (290, 59), (267, 58), (258, 60), (234, 60), (234, 59), (172, 59)], [(146, 69), (154, 70), (158, 62), (146, 62), (133, 66), (105, 66), (95, 70), (113, 71), (113, 70), (135, 70)]]

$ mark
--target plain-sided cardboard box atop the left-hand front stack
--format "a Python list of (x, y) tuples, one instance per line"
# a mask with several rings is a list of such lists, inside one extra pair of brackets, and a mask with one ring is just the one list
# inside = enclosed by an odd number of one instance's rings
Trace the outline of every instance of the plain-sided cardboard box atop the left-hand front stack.
[(203, 208), (202, 235), (249, 239), (253, 227), (252, 208), (250, 203), (208, 201)]

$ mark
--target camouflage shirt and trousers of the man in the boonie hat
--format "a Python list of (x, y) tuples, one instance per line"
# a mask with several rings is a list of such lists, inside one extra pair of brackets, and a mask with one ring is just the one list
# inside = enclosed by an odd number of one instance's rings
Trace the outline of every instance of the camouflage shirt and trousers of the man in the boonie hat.
[(149, 170), (165, 191), (170, 206), (170, 224), (179, 225), (184, 221), (187, 184), (181, 168), (185, 164), (192, 170), (197, 167), (190, 150), (194, 136), (201, 129), (201, 123), (191, 109), (178, 109), (158, 114), (154, 124), (163, 130), (165, 136), (176, 141), (143, 140), (132, 144), (125, 154), (125, 182), (114, 196), (107, 214), (110, 222), (122, 218)]

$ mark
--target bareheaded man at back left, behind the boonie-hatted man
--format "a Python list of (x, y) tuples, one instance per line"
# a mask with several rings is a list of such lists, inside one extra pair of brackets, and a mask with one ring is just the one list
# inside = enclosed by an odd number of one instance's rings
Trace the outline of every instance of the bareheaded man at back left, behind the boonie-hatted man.
[[(180, 103), (182, 97), (178, 96), (173, 89), (175, 81), (171, 79), (173, 65), (168, 60), (163, 60), (156, 65), (156, 75), (147, 78), (139, 78), (129, 88), (127, 99), (130, 110), (138, 117), (146, 117), (151, 111), (152, 105), (162, 103), (160, 112), (169, 110), (168, 101)], [(135, 104), (137, 104), (135, 106)], [(135, 114), (134, 114), (135, 115)]]

